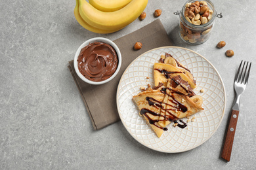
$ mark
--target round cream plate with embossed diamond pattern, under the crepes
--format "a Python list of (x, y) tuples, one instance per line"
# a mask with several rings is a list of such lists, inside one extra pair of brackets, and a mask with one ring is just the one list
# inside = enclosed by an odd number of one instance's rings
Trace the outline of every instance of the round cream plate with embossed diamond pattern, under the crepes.
[[(184, 129), (169, 124), (169, 130), (163, 131), (163, 135), (158, 138), (146, 120), (139, 116), (132, 97), (140, 92), (140, 86), (154, 85), (153, 65), (165, 52), (190, 69), (197, 84), (194, 92), (202, 95), (202, 107), (205, 110), (194, 114), (195, 122), (188, 122)], [(204, 89), (203, 93), (200, 93), (201, 89)], [(155, 48), (139, 56), (127, 67), (117, 88), (117, 110), (127, 131), (139, 143), (160, 152), (184, 152), (203, 144), (221, 124), (225, 106), (223, 80), (215, 67), (200, 54), (175, 46)], [(183, 120), (186, 122), (187, 119)]]

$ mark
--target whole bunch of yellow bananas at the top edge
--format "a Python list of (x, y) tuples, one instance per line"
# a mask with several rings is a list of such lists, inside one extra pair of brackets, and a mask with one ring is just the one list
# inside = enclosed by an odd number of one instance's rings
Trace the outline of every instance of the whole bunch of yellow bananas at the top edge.
[(76, 0), (77, 22), (94, 33), (114, 33), (131, 24), (146, 8), (148, 0)]

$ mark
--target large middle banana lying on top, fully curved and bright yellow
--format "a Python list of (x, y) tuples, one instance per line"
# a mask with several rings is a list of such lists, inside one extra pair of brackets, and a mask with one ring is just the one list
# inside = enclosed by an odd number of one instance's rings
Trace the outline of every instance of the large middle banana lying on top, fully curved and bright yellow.
[(99, 29), (121, 29), (131, 24), (146, 8), (148, 0), (132, 0), (128, 5), (114, 12), (102, 12), (85, 0), (79, 0), (79, 14), (89, 25)]

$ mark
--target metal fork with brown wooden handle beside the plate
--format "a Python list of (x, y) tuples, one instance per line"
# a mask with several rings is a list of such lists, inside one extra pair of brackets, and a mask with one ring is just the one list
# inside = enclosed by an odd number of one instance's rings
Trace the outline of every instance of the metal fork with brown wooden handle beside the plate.
[[(249, 78), (249, 73), (251, 70), (251, 63), (247, 61), (246, 66), (245, 66), (245, 63), (246, 61), (244, 61), (244, 63), (243, 61), (241, 61), (238, 67), (238, 71), (236, 72), (236, 76), (234, 78), (234, 90), (236, 91), (236, 99), (232, 107), (228, 129), (226, 130), (226, 139), (223, 145), (223, 152), (221, 154), (221, 158), (223, 158), (226, 161), (230, 161), (232, 145), (233, 145), (234, 135), (236, 131), (236, 124), (238, 122), (240, 96), (246, 88), (248, 78)], [(249, 65), (249, 68), (247, 69), (248, 65)]]

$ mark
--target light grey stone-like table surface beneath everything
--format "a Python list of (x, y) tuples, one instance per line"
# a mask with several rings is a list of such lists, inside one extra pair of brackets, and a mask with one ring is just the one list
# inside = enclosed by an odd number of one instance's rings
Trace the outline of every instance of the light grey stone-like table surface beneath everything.
[[(0, 1), (0, 169), (255, 169), (256, 15), (255, 1), (213, 0), (217, 13), (210, 39), (191, 46), (178, 35), (185, 1), (149, 1), (148, 14), (117, 33), (87, 31), (74, 17), (73, 1)], [(179, 154), (157, 152), (138, 143), (119, 121), (95, 131), (68, 70), (80, 44), (93, 37), (115, 40), (160, 20), (175, 46), (198, 52), (219, 71), (226, 89), (226, 111), (214, 135)], [(219, 41), (226, 46), (217, 49)], [(232, 58), (225, 51), (234, 50)], [(230, 162), (221, 160), (226, 124), (234, 99), (240, 61), (252, 61), (242, 95)]]

